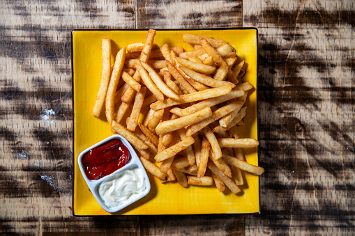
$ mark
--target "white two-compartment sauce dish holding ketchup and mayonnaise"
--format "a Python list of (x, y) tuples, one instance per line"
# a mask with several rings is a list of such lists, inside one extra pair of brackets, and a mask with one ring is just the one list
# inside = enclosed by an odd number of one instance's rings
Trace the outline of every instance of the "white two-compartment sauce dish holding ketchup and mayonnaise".
[(122, 210), (151, 189), (135, 150), (118, 134), (81, 152), (77, 162), (91, 193), (107, 212)]

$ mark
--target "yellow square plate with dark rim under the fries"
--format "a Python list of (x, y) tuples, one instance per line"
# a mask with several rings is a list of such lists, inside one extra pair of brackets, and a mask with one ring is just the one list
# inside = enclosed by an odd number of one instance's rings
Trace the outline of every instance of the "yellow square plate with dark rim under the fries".
[[(209, 29), (209, 30), (157, 30), (154, 42), (161, 46), (181, 46), (186, 50), (193, 47), (183, 42), (183, 33), (210, 36), (226, 40), (236, 49), (239, 61), (245, 61), (246, 75), (257, 88), (257, 29)], [(96, 202), (89, 191), (77, 164), (77, 157), (86, 148), (111, 136), (109, 123), (103, 118), (92, 116), (93, 104), (100, 86), (101, 40), (112, 40), (112, 54), (133, 42), (144, 42), (146, 31), (124, 30), (80, 30), (72, 32), (73, 43), (73, 106), (74, 106), (74, 196), (73, 214), (76, 216), (109, 215)], [(257, 139), (257, 93), (249, 92), (246, 106), (246, 125), (240, 127), (245, 137)], [(244, 150), (247, 162), (258, 164), (257, 148)], [(176, 182), (161, 184), (149, 174), (150, 193), (137, 203), (114, 214), (220, 214), (259, 212), (259, 178), (245, 173), (246, 184), (241, 186), (241, 194), (229, 190), (220, 193), (216, 187), (181, 187)]]

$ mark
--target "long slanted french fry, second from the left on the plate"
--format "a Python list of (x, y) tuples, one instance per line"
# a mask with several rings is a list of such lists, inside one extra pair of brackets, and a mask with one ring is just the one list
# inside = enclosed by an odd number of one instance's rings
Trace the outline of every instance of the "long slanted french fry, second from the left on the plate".
[(109, 80), (109, 86), (107, 88), (105, 110), (106, 118), (109, 123), (111, 123), (114, 119), (114, 95), (116, 93), (117, 85), (119, 84), (121, 72), (123, 70), (123, 61), (125, 59), (125, 56), (126, 47), (123, 47), (116, 55), (116, 61), (114, 62), (114, 70), (112, 70), (111, 79)]

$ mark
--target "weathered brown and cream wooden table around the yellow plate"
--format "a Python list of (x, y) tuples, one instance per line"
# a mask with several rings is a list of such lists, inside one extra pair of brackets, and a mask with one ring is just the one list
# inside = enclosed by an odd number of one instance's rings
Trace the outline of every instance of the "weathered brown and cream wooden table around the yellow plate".
[[(73, 29), (259, 29), (261, 214), (72, 215)], [(355, 4), (1, 1), (0, 231), (352, 235)]]

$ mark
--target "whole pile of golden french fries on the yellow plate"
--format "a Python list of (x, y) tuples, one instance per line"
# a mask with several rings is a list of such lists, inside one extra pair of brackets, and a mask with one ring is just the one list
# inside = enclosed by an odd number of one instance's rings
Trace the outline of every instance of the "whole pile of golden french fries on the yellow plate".
[[(142, 164), (161, 182), (177, 180), (182, 187), (216, 184), (237, 194), (242, 171), (260, 175), (241, 148), (254, 148), (255, 139), (240, 138), (248, 91), (239, 83), (244, 61), (224, 40), (184, 34), (182, 47), (156, 49), (156, 31), (145, 42), (123, 47), (111, 65), (111, 41), (103, 38), (103, 70), (93, 108), (105, 107), (114, 134), (125, 137), (139, 152)], [(144, 114), (144, 118), (139, 116)], [(126, 118), (125, 118), (126, 117)], [(142, 123), (139, 120), (143, 120)]]

